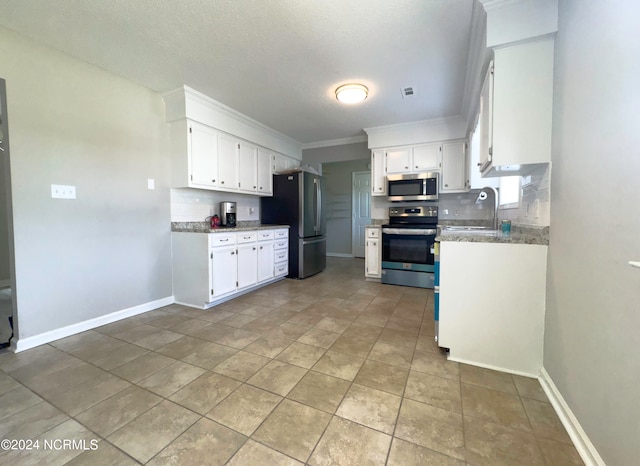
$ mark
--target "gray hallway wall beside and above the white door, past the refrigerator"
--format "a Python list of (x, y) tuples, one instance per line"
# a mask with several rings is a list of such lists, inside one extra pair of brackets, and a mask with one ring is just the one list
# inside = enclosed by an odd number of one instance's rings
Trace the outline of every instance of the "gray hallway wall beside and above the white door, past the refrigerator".
[(370, 164), (370, 158), (322, 164), (327, 212), (327, 253), (352, 253), (352, 173), (368, 171)]

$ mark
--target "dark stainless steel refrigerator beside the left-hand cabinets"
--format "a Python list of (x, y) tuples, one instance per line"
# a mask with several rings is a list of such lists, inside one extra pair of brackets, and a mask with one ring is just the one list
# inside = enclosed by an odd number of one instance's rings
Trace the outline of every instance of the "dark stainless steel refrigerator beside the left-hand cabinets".
[(273, 197), (260, 200), (262, 223), (291, 227), (287, 278), (307, 278), (327, 265), (323, 188), (314, 173), (273, 175)]

